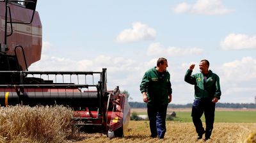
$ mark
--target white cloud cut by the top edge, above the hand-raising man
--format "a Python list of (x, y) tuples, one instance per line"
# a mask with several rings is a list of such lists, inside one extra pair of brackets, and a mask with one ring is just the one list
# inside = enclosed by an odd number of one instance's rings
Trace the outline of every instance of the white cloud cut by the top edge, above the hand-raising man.
[(195, 13), (203, 15), (222, 15), (231, 13), (220, 0), (198, 0), (195, 4), (180, 3), (173, 8), (175, 13)]

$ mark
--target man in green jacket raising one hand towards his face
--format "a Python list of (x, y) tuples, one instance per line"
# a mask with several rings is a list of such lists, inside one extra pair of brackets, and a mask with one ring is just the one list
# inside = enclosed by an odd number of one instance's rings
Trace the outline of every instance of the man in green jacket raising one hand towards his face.
[[(202, 139), (205, 133), (205, 140), (210, 139), (213, 123), (215, 103), (220, 100), (220, 78), (215, 73), (209, 70), (209, 61), (203, 59), (200, 61), (200, 73), (191, 75), (195, 64), (189, 66), (186, 72), (185, 81), (189, 84), (195, 85), (195, 100), (192, 107), (192, 119), (198, 133), (197, 139)], [(206, 128), (204, 130), (201, 117), (204, 113)]]

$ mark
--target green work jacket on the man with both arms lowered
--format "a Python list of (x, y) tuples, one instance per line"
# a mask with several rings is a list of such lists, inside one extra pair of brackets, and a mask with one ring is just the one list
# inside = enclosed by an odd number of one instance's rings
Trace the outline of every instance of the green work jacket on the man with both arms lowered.
[(160, 77), (156, 67), (151, 68), (142, 78), (140, 91), (147, 93), (149, 105), (167, 105), (169, 95), (172, 94), (170, 73), (166, 71), (163, 77)]

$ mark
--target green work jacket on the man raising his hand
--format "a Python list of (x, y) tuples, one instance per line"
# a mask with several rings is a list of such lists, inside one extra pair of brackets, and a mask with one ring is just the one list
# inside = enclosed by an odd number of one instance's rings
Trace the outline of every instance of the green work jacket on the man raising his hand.
[(188, 70), (185, 75), (185, 81), (189, 84), (195, 85), (195, 98), (218, 98), (220, 100), (221, 91), (220, 91), (220, 78), (215, 73), (212, 73), (209, 70), (207, 74), (207, 79), (204, 81), (204, 74), (196, 73), (191, 75), (192, 71)]

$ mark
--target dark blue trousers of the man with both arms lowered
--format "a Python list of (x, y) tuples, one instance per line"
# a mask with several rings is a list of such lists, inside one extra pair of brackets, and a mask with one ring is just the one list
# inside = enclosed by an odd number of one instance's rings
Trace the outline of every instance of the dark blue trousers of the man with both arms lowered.
[(151, 137), (157, 136), (160, 139), (164, 138), (164, 133), (166, 132), (165, 119), (167, 106), (168, 105), (147, 104)]

